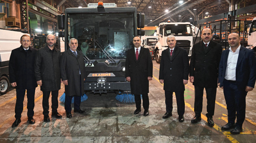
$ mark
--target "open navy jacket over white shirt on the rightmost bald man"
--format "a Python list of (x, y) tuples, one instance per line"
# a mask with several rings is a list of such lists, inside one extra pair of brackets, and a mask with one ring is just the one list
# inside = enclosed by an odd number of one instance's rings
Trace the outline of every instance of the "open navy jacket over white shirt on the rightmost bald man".
[[(219, 83), (223, 86), (226, 73), (229, 49), (223, 51), (219, 66)], [(245, 90), (246, 86), (254, 88), (256, 80), (256, 58), (254, 51), (245, 47), (240, 47), (236, 64), (236, 83), (240, 90)]]

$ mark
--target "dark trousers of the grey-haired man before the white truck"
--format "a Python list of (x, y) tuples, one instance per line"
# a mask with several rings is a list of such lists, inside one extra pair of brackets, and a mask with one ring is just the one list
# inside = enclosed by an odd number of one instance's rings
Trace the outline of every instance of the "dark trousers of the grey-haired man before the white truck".
[[(166, 112), (172, 113), (172, 94), (171, 91), (164, 90), (165, 94), (165, 105)], [(183, 92), (175, 92), (176, 102), (177, 102), (177, 112), (179, 116), (183, 116), (185, 112), (185, 101), (184, 101), (184, 91)]]

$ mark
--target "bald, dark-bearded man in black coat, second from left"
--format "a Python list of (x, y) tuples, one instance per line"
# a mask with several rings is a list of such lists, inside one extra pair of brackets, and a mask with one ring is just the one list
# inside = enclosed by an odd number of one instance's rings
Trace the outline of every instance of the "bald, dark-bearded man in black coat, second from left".
[(61, 118), (58, 113), (58, 94), (60, 90), (60, 50), (54, 47), (56, 37), (46, 37), (47, 44), (38, 50), (35, 61), (36, 82), (43, 92), (44, 122), (49, 122), (49, 97), (52, 92), (52, 116)]

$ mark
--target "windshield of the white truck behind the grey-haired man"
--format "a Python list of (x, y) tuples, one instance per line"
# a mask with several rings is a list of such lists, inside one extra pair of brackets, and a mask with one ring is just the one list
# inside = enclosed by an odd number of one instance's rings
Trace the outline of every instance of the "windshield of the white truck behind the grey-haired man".
[(190, 24), (168, 24), (165, 26), (165, 35), (192, 35)]

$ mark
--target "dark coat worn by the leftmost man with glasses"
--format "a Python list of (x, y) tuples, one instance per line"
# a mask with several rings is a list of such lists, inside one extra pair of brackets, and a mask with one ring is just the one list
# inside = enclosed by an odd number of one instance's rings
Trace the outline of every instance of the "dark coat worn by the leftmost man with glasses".
[(16, 89), (36, 88), (34, 62), (37, 49), (29, 47), (26, 52), (22, 46), (13, 49), (9, 60), (10, 83), (16, 82)]

